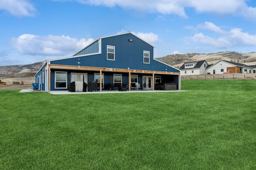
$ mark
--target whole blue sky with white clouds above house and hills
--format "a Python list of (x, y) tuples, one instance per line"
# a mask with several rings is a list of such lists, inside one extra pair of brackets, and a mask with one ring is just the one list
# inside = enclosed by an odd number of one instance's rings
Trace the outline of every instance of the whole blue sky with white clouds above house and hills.
[(132, 32), (173, 53), (256, 51), (253, 0), (0, 0), (0, 66), (72, 56)]

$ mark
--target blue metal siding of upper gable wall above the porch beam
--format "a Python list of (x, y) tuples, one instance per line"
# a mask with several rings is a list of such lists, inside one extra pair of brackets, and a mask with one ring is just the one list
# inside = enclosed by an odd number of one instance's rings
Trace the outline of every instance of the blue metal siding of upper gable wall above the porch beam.
[[(128, 39), (132, 39), (132, 42), (129, 42)], [(98, 41), (91, 46), (94, 45), (95, 47), (96, 44), (98, 44)], [(107, 45), (115, 46), (115, 61), (107, 60)], [(86, 49), (90, 49), (89, 47)], [(101, 48), (102, 54), (56, 60), (51, 61), (51, 64), (78, 66), (79, 58), (80, 66), (166, 71), (166, 64), (160, 63), (153, 59), (154, 47), (132, 35), (131, 33), (102, 38)], [(143, 51), (150, 51), (150, 64), (143, 63)], [(94, 52), (96, 52), (95, 49)], [(77, 55), (79, 54), (82, 54), (82, 51)], [(167, 71), (180, 72), (179, 70), (170, 66), (167, 66)]]

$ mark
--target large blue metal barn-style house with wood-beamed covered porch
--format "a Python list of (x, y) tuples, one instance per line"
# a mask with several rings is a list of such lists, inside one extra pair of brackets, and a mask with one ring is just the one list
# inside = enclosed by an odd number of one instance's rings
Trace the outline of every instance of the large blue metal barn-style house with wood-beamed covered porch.
[(154, 46), (131, 32), (100, 37), (71, 57), (48, 60), (35, 75), (38, 90), (68, 90), (74, 81), (98, 80), (98, 89), (106, 84), (174, 83), (180, 90), (180, 70), (154, 59)]

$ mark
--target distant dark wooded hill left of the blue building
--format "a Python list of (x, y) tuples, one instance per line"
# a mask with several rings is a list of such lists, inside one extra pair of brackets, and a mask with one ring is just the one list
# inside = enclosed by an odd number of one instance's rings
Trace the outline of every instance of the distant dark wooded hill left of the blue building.
[(44, 62), (38, 62), (27, 65), (11, 65), (11, 66), (0, 66), (0, 74), (15, 74), (22, 72), (37, 72), (42, 67)]

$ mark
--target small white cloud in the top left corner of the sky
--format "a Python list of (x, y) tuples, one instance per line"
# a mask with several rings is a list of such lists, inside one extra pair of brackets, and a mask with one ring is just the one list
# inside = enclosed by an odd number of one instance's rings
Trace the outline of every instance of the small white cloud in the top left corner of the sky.
[(36, 12), (36, 8), (28, 0), (0, 0), (0, 10), (17, 17), (34, 16)]

